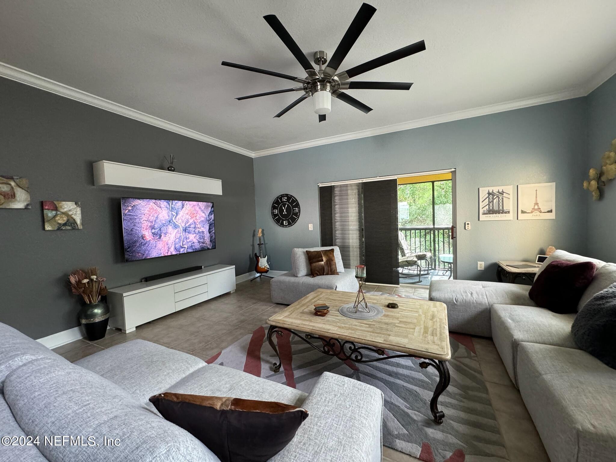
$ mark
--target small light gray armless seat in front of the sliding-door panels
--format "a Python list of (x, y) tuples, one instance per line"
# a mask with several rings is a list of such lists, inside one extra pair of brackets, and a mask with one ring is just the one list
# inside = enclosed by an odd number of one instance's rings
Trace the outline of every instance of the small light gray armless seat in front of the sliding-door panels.
[[(334, 249), (338, 275), (310, 277), (310, 264), (307, 250)], [(338, 246), (311, 247), (306, 249), (296, 248), (291, 251), (290, 272), (272, 279), (270, 290), (272, 302), (290, 305), (317, 289), (342, 290), (357, 292), (359, 284), (355, 279), (355, 270), (345, 269), (342, 264), (342, 256)]]

